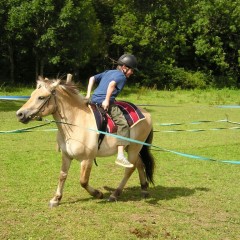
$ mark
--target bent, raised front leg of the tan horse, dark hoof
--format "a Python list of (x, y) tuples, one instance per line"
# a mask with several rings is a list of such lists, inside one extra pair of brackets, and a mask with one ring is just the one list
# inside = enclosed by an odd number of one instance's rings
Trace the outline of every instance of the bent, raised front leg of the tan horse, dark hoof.
[(96, 198), (102, 199), (103, 198), (103, 193), (97, 189), (92, 188), (89, 185), (89, 178), (90, 178), (90, 173), (92, 170), (92, 164), (93, 160), (83, 160), (81, 162), (81, 173), (80, 173), (80, 184), (81, 186), (87, 190), (87, 192)]

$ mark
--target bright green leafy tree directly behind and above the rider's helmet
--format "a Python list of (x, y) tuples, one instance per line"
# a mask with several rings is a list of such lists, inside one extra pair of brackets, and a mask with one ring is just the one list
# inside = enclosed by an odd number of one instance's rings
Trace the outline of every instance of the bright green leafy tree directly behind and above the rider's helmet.
[(130, 5), (121, 1), (115, 8), (112, 41), (137, 55), (144, 69), (140, 77), (145, 79), (145, 84), (156, 84), (162, 88), (170, 85), (169, 74), (176, 65), (176, 53), (182, 46), (186, 48), (182, 30), (185, 26), (180, 22), (185, 2), (134, 1)]

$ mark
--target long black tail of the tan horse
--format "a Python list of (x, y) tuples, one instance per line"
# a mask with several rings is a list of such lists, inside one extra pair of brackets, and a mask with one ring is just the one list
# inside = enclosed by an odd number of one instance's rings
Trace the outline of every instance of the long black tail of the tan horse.
[[(151, 132), (149, 133), (145, 143), (151, 144), (152, 140), (153, 140), (153, 129), (151, 129)], [(143, 145), (139, 155), (144, 164), (146, 178), (148, 182), (154, 184), (153, 173), (155, 169), (155, 161), (154, 161), (153, 155), (150, 152), (150, 147), (147, 145)]]

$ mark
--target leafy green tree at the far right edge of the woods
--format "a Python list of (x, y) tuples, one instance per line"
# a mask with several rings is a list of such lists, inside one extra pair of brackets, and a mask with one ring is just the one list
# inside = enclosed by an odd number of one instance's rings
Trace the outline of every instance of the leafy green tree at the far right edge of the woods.
[(194, 8), (191, 35), (197, 65), (213, 71), (216, 76), (227, 76), (225, 82), (217, 82), (218, 85), (236, 84), (240, 77), (239, 2), (202, 0)]

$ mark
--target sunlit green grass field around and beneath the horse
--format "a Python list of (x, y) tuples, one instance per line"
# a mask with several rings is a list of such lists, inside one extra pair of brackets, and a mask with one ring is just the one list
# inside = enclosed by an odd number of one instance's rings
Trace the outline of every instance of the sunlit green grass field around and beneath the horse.
[[(29, 95), (31, 91), (0, 89), (0, 95)], [(121, 99), (148, 105), (145, 108), (159, 131), (154, 145), (216, 160), (240, 160), (240, 130), (210, 130), (239, 126), (215, 122), (226, 117), (240, 122), (239, 108), (218, 107), (240, 105), (239, 91), (126, 88)], [(0, 131), (39, 124), (26, 126), (17, 121), (15, 112), (22, 104), (0, 100)], [(212, 122), (190, 124), (199, 120)], [(166, 132), (176, 129), (206, 131)], [(102, 200), (80, 187), (79, 163), (73, 161), (61, 205), (50, 209), (61, 166), (55, 135), (43, 131), (0, 134), (0, 239), (240, 239), (240, 165), (168, 152), (152, 151), (156, 172), (149, 198), (141, 199), (134, 173), (116, 203), (106, 201), (124, 171), (115, 165), (115, 156), (98, 159), (98, 167), (93, 167), (90, 182), (103, 191)]]

